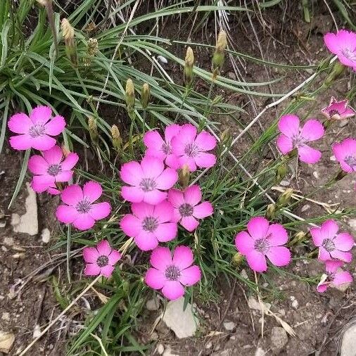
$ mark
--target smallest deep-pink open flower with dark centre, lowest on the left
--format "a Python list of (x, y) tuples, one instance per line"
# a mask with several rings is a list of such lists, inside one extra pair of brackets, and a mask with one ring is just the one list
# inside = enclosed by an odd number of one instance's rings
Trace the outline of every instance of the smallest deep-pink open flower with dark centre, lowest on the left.
[(86, 276), (106, 276), (109, 278), (113, 273), (115, 263), (120, 260), (121, 253), (113, 250), (108, 241), (100, 241), (96, 247), (85, 247), (83, 257), (87, 265), (84, 269)]

